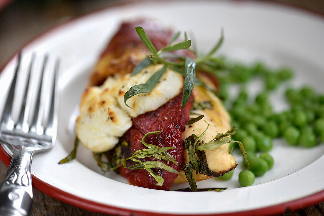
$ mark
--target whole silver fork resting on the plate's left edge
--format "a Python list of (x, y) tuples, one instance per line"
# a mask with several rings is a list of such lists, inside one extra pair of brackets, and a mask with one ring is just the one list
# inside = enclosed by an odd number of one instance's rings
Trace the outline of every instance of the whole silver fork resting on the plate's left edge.
[[(30, 104), (27, 104), (27, 96), (29, 94), (30, 74), (35, 59), (34, 54), (29, 62), (27, 84), (23, 93), (23, 100), (17, 123), (14, 122), (12, 117), (14, 92), (21, 58), (20, 51), (14, 78), (10, 86), (0, 122), (0, 141), (12, 147), (12, 159), (5, 178), (0, 185), (1, 216), (30, 215), (33, 202), (30, 173), (32, 156), (37, 151), (52, 148), (55, 144), (57, 135), (59, 60), (56, 60), (54, 66), (49, 104), (45, 104), (46, 91), (43, 89), (46, 89), (47, 85), (44, 74), (46, 71), (45, 67), (48, 63), (48, 56), (45, 55), (44, 57), (35, 111), (32, 123), (29, 125), (28, 115)], [(49, 112), (47, 115), (47, 124), (46, 126), (42, 126), (45, 106), (49, 106)]]

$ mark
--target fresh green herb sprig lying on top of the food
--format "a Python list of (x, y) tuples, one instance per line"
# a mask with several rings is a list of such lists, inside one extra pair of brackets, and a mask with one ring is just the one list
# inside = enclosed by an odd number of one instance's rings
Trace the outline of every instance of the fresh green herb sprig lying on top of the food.
[[(156, 48), (154, 47), (153, 43), (151, 42), (151, 40), (149, 39), (142, 27), (136, 27), (136, 32), (141, 38), (144, 45), (151, 52), (151, 54), (149, 54), (147, 58), (145, 58), (133, 69), (131, 75), (139, 73), (141, 70), (143, 70), (145, 67), (151, 64), (160, 63), (163, 64), (164, 67), (158, 70), (156, 73), (154, 73), (145, 84), (135, 85), (131, 87), (130, 90), (128, 90), (124, 95), (125, 104), (129, 98), (140, 93), (147, 93), (151, 91), (156, 86), (158, 80), (162, 77), (166, 69), (169, 68), (184, 76), (185, 80), (181, 102), (181, 109), (183, 109), (189, 101), (193, 87), (195, 86), (196, 82), (198, 82), (200, 85), (202, 84), (200, 80), (196, 79), (196, 69), (200, 69), (216, 75), (224, 67), (224, 62), (222, 59), (213, 57), (213, 54), (217, 52), (217, 50), (221, 47), (224, 41), (223, 30), (221, 31), (220, 39), (210, 50), (210, 52), (208, 52), (207, 55), (195, 58), (194, 60), (190, 59), (189, 57), (183, 58), (176, 54), (172, 54), (172, 59), (176, 60), (170, 60), (168, 58), (168, 55), (164, 55), (172, 51), (189, 49), (191, 47), (191, 40), (187, 39), (186, 33), (184, 34), (184, 41), (173, 44), (173, 42), (177, 40), (180, 36), (180, 32), (177, 32), (174, 36), (171, 37), (170, 42), (166, 47), (160, 49), (159, 51), (156, 51)], [(126, 104), (126, 106), (128, 105)]]

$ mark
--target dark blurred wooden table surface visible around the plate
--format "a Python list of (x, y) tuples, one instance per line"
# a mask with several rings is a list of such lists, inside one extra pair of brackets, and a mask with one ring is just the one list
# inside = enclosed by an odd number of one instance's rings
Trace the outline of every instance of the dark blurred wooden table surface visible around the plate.
[[(132, 0), (16, 0), (0, 11), (0, 66), (22, 45), (51, 27), (76, 16)], [(275, 0), (324, 14), (324, 0)], [(6, 166), (0, 162), (0, 180)], [(324, 184), (324, 183), (323, 183)], [(91, 213), (65, 204), (34, 189), (33, 216), (39, 215), (89, 215)], [(324, 202), (308, 208), (288, 212), (284, 216), (324, 215)]]

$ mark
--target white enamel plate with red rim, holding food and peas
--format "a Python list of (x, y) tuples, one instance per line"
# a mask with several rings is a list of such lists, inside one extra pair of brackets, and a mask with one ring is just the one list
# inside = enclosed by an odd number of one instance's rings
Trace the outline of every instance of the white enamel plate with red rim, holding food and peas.
[[(78, 149), (76, 160), (59, 165), (73, 148), (75, 110), (91, 68), (121, 22), (136, 18), (153, 18), (175, 30), (194, 32), (201, 52), (210, 48), (224, 27), (221, 54), (248, 63), (262, 59), (274, 68), (290, 66), (296, 72), (292, 85), (310, 84), (324, 92), (322, 17), (291, 7), (248, 1), (145, 1), (110, 7), (50, 30), (24, 48), (23, 70), (27, 70), (32, 52), (38, 56), (49, 53), (51, 63), (54, 57), (60, 56), (63, 69), (58, 140), (51, 151), (34, 156), (34, 186), (81, 208), (126, 215), (242, 212), (287, 203), (314, 193), (317, 199), (314, 196), (302, 199), (305, 201), (301, 201), (300, 207), (324, 199), (323, 144), (302, 149), (275, 140), (270, 152), (275, 160), (273, 169), (256, 178), (249, 187), (238, 185), (242, 158), (237, 154), (239, 165), (230, 181), (213, 178), (197, 184), (200, 188), (228, 187), (222, 193), (159, 191), (128, 185), (113, 172), (102, 175), (91, 152), (83, 147)], [(9, 61), (0, 74), (2, 101), (15, 64), (15, 59)], [(37, 64), (39, 67), (41, 58)], [(256, 82), (250, 90), (255, 92), (258, 88), (260, 83)], [(277, 110), (286, 106), (284, 100), (272, 99)], [(8, 163), (4, 152), (1, 159)], [(171, 189), (187, 186), (180, 184)], [(293, 206), (285, 205), (285, 208), (297, 208)], [(279, 209), (278, 206), (263, 210), (275, 213)]]

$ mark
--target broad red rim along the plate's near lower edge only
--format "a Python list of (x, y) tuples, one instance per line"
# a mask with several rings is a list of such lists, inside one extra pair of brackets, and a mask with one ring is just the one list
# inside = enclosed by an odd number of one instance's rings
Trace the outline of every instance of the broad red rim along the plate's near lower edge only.
[[(11, 162), (11, 157), (3, 148), (2, 144), (0, 145), (0, 160), (6, 165), (6, 167), (8, 167)], [(288, 201), (288, 202), (284, 202), (284, 203), (280, 203), (268, 207), (263, 207), (259, 209), (253, 209), (253, 210), (228, 212), (228, 213), (214, 213), (214, 214), (170, 214), (170, 213), (159, 213), (159, 212), (152, 212), (152, 211), (132, 210), (126, 208), (123, 209), (123, 208), (118, 208), (106, 204), (97, 203), (91, 200), (77, 197), (63, 190), (60, 190), (59, 188), (56, 188), (46, 182), (41, 181), (41, 179), (37, 178), (34, 175), (32, 175), (31, 177), (32, 177), (33, 187), (52, 198), (58, 199), (69, 205), (73, 205), (75, 207), (88, 210), (91, 212), (113, 214), (113, 215), (124, 215), (124, 216), (135, 216), (135, 215), (150, 216), (152, 214), (157, 216), (168, 216), (168, 215), (172, 215), (172, 216), (179, 216), (179, 215), (182, 216), (193, 216), (193, 215), (248, 216), (248, 215), (270, 215), (270, 214), (272, 215), (272, 214), (280, 214), (280, 213), (295, 211), (324, 201), (324, 190), (322, 190), (303, 198), (299, 198), (292, 201)]]

